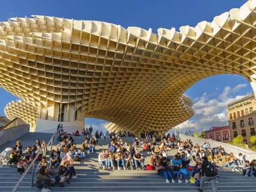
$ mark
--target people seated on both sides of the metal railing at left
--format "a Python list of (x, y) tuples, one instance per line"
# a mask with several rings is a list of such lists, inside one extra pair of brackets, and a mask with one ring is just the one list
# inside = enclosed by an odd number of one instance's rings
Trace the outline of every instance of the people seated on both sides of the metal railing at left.
[[(25, 149), (18, 140), (10, 152), (8, 163), (10, 166), (17, 167), (17, 172), (22, 174), (37, 157), (35, 161), (38, 163), (35, 179), (37, 187), (41, 188), (43, 192), (50, 191), (50, 185), (56, 183), (60, 187), (64, 187), (65, 183), (70, 183), (70, 179), (77, 178), (73, 162), (81, 161), (87, 153), (94, 153), (97, 139), (95, 135), (86, 134), (81, 149), (76, 147), (71, 134), (64, 131), (58, 131), (57, 140), (58, 144), (49, 152), (47, 152), (45, 140), (40, 142), (37, 139), (34, 145)], [(46, 154), (49, 154), (49, 161), (47, 161)]]

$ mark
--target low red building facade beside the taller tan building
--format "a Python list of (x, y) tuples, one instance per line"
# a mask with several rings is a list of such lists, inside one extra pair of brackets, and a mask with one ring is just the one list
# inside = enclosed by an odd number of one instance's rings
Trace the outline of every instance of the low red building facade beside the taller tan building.
[(204, 131), (204, 133), (206, 134), (206, 139), (212, 139), (218, 142), (231, 141), (230, 126), (212, 127), (211, 130)]

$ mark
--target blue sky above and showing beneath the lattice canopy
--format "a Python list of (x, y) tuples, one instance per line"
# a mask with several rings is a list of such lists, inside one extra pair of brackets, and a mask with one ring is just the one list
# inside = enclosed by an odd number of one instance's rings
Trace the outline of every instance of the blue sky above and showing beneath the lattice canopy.
[[(10, 17), (31, 16), (41, 14), (56, 17), (66, 17), (70, 19), (82, 20), (100, 20), (115, 23), (127, 28), (128, 26), (139, 26), (144, 29), (152, 28), (154, 32), (157, 28), (172, 28), (177, 30), (180, 26), (195, 26), (202, 20), (212, 21), (218, 14), (229, 11), (231, 8), (240, 7), (246, 1), (239, 0), (183, 0), (183, 1), (1, 1), (0, 20), (5, 21)], [(235, 90), (235, 91), (233, 91)], [(221, 75), (208, 77), (196, 83), (192, 88), (186, 91), (192, 100), (194, 100), (196, 115), (180, 125), (180, 128), (209, 128), (212, 125), (225, 124), (224, 113), (228, 101), (242, 95), (252, 92), (249, 82), (240, 76)], [(225, 95), (226, 94), (226, 95)], [(225, 96), (225, 101), (223, 100)], [(0, 88), (0, 115), (4, 115), (4, 106), (10, 101), (16, 100), (16, 97), (8, 94)], [(223, 104), (218, 109), (213, 110), (213, 101), (219, 101)], [(201, 103), (200, 103), (201, 102)], [(202, 104), (203, 102), (203, 104)], [(198, 108), (199, 107), (199, 108)], [(208, 113), (206, 116), (201, 114), (203, 109)], [(208, 107), (208, 108), (207, 108)], [(198, 110), (198, 113), (197, 113)], [(207, 114), (208, 114), (207, 113)], [(209, 117), (217, 116), (211, 121)], [(207, 118), (206, 123), (200, 122), (200, 119)], [(102, 127), (105, 121), (96, 119), (87, 119), (87, 124), (94, 125), (97, 128)]]

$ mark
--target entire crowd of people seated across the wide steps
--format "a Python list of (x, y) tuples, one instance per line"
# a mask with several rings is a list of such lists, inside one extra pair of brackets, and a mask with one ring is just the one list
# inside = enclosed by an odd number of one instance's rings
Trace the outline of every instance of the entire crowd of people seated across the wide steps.
[[(96, 131), (97, 133), (97, 131)], [(203, 159), (207, 159), (211, 163), (222, 163), (224, 166), (231, 167), (232, 171), (243, 171), (244, 176), (256, 176), (256, 161), (246, 161), (242, 154), (234, 157), (233, 153), (227, 154), (222, 146), (212, 148), (207, 141), (202, 145), (197, 143), (194, 145), (191, 140), (178, 140), (174, 134), (157, 137), (156, 134), (146, 133), (144, 138), (135, 137), (132, 144), (123, 142), (122, 137), (128, 136), (126, 131), (109, 133), (110, 144), (108, 149), (102, 150), (99, 154), (99, 164), (102, 169), (146, 169), (144, 164), (144, 155), (152, 154), (150, 157), (149, 170), (163, 176), (166, 182), (200, 182), (202, 176)], [(42, 150), (38, 157), (40, 163), (37, 166), (37, 186), (42, 191), (50, 191), (49, 186), (58, 182), (61, 187), (64, 183), (69, 184), (70, 178), (76, 179), (76, 171), (73, 161), (81, 161), (88, 153), (94, 153), (98, 145), (96, 134), (87, 131), (81, 149), (76, 147), (74, 139), (70, 134), (62, 132), (58, 136), (58, 145), (50, 151), (49, 163), (47, 163), (45, 154), (47, 149)], [(107, 137), (106, 137), (107, 138)], [(10, 154), (10, 165), (16, 164), (17, 172), (22, 174), (25, 172), (28, 164), (31, 163), (41, 148), (46, 146), (46, 142), (40, 143), (35, 140), (34, 145), (28, 146), (23, 151), (20, 141), (16, 142)], [(177, 148), (178, 152), (173, 158), (168, 157), (168, 151)], [(144, 155), (141, 154), (144, 151)], [(189, 179), (189, 171), (192, 170), (190, 163), (194, 162), (195, 167), (192, 173), (192, 179)], [(54, 169), (58, 170), (58, 175)], [(218, 182), (216, 175), (216, 182)], [(190, 177), (191, 178), (191, 177)]]

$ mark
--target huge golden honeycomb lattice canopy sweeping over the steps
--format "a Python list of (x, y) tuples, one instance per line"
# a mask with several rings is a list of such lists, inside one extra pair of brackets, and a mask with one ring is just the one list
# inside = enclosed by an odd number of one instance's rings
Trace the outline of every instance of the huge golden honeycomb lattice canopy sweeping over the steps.
[(157, 34), (88, 20), (11, 18), (0, 28), (0, 86), (32, 103), (41, 119), (93, 117), (112, 122), (112, 130), (163, 133), (194, 114), (183, 92), (198, 80), (239, 74), (254, 83), (255, 6), (248, 1), (212, 22)]

